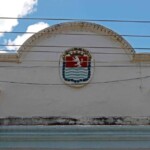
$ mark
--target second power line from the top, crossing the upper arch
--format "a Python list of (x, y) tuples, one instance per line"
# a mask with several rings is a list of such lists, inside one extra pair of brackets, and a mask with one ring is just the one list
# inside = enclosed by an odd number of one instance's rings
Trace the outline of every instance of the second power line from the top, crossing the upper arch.
[[(0, 33), (12, 33), (12, 34), (35, 34), (37, 32), (22, 32), (22, 31), (16, 31), (16, 32), (5, 32), (5, 31), (0, 31)], [(53, 32), (53, 34), (58, 34), (57, 32)], [(88, 35), (88, 36), (114, 36), (114, 35), (104, 35), (104, 34), (89, 34), (89, 33), (59, 33), (61, 35)], [(139, 34), (119, 34), (120, 36), (124, 37), (137, 37), (137, 38), (150, 38), (150, 35), (139, 35)]]

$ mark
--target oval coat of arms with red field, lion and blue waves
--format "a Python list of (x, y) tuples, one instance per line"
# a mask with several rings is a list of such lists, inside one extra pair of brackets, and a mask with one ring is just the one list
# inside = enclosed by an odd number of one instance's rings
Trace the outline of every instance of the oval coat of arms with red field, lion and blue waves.
[(87, 84), (94, 70), (94, 60), (88, 50), (72, 48), (60, 59), (60, 74), (66, 84), (80, 87)]

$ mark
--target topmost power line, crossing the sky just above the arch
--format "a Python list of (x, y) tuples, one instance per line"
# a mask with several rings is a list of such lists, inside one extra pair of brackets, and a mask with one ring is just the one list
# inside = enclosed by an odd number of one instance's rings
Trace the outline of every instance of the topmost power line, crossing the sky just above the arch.
[(38, 18), (38, 17), (0, 17), (2, 20), (11, 20), (11, 19), (19, 19), (19, 20), (51, 20), (51, 21), (92, 21), (92, 22), (117, 22), (117, 23), (150, 23), (150, 20), (117, 20), (117, 19), (79, 19), (79, 18)]

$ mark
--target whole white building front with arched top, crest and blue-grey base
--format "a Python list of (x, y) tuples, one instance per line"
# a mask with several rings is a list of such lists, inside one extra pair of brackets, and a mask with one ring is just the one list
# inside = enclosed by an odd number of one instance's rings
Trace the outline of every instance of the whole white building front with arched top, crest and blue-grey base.
[(0, 148), (150, 148), (149, 62), (94, 23), (34, 34), (17, 54), (0, 54)]

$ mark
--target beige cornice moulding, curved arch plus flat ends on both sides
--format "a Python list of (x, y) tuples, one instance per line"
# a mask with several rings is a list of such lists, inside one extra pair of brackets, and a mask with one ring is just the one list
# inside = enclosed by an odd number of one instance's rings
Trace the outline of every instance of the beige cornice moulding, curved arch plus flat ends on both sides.
[(119, 42), (120, 47), (125, 51), (126, 54), (129, 54), (130, 60), (133, 62), (149, 62), (150, 55), (145, 53), (136, 54), (134, 48), (118, 33), (114, 32), (111, 29), (108, 29), (102, 25), (91, 23), (91, 22), (65, 22), (50, 26), (45, 28), (30, 38), (28, 38), (22, 46), (19, 48), (17, 53), (1, 53), (0, 61), (1, 62), (18, 62), (19, 59), (29, 52), (30, 49), (38, 43), (39, 40), (44, 39), (45, 37), (51, 37), (58, 34), (64, 34), (67, 32), (89, 32), (95, 35), (107, 36), (110, 39)]

